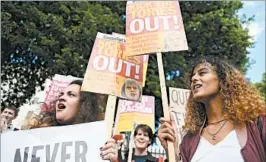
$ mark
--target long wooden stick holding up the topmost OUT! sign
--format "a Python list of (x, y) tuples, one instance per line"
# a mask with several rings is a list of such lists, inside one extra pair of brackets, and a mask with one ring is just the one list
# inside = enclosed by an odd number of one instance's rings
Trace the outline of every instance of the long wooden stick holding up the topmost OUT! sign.
[[(167, 93), (166, 93), (165, 76), (164, 76), (164, 70), (163, 70), (162, 53), (160, 52), (157, 53), (157, 63), (158, 63), (158, 69), (159, 69), (161, 95), (162, 95), (162, 102), (163, 102), (163, 114), (167, 120), (170, 120), (170, 111), (169, 111), (169, 106), (167, 103)], [(174, 143), (167, 141), (167, 147), (168, 147), (168, 161), (176, 162)]]

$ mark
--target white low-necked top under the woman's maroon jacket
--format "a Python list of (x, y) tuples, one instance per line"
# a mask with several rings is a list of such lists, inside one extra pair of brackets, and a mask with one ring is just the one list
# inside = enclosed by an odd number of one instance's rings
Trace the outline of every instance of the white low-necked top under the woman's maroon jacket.
[(235, 130), (216, 145), (201, 137), (191, 162), (244, 162), (240, 150)]

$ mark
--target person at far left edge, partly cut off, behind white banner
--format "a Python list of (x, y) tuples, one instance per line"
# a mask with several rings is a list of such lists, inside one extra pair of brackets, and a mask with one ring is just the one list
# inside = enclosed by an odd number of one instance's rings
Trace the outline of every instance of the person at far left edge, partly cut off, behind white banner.
[(14, 106), (5, 107), (0, 115), (0, 132), (18, 130), (12, 125), (12, 120), (18, 116), (19, 109)]

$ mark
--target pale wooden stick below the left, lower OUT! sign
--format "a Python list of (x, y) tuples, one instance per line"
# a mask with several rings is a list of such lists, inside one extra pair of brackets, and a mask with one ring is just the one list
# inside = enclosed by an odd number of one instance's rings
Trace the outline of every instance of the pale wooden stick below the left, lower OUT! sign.
[(107, 137), (110, 138), (113, 135), (113, 124), (115, 115), (116, 96), (108, 95), (104, 121), (107, 125)]

